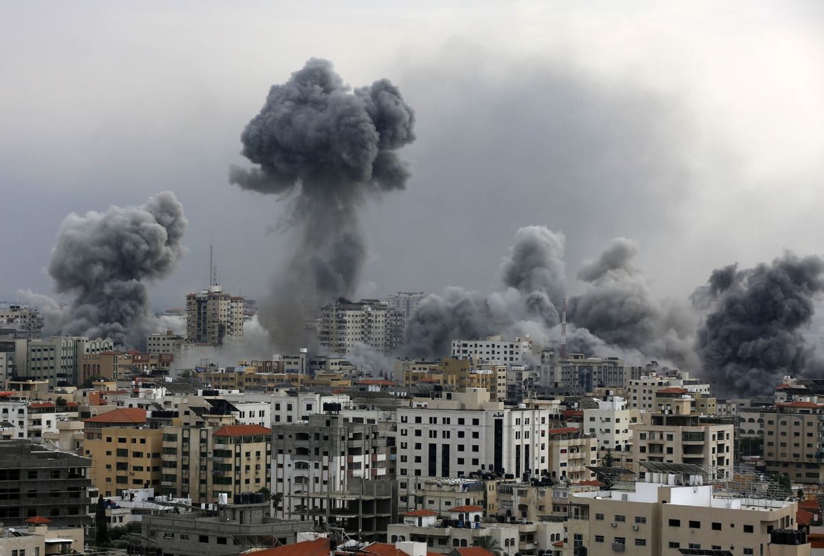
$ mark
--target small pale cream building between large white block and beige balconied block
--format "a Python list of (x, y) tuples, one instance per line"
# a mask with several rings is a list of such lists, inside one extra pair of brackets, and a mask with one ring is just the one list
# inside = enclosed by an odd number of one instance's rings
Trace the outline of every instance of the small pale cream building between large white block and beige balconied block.
[(583, 409), (583, 430), (597, 439), (598, 460), (610, 451), (615, 465), (625, 467), (632, 463), (632, 428), (639, 423), (638, 409), (630, 409), (620, 396), (597, 399), (597, 408)]

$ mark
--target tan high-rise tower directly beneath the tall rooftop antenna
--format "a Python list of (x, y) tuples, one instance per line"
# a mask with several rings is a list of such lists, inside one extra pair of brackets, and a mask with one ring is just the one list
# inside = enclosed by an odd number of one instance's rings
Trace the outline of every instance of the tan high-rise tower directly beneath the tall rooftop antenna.
[(186, 341), (219, 346), (243, 339), (243, 297), (220, 286), (186, 296)]

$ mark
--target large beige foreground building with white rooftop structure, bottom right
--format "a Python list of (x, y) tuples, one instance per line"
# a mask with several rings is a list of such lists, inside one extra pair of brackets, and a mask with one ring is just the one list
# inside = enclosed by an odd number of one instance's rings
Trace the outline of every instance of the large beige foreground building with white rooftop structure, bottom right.
[(691, 466), (651, 467), (628, 488), (571, 496), (566, 556), (810, 554), (809, 545), (770, 544), (773, 530), (794, 528), (796, 502), (716, 492)]

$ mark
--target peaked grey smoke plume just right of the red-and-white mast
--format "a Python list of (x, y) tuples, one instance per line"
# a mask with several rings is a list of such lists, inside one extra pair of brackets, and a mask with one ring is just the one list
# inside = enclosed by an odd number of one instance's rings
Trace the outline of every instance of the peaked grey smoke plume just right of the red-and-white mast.
[(694, 315), (686, 306), (653, 297), (644, 275), (632, 265), (636, 251), (632, 241), (616, 238), (578, 271), (589, 286), (570, 299), (569, 320), (611, 346), (694, 368)]

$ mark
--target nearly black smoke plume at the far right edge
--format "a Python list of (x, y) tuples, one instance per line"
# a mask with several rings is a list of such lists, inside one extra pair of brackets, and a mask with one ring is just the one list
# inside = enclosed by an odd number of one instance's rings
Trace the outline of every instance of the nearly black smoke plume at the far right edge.
[(709, 279), (714, 308), (698, 334), (705, 371), (720, 394), (767, 395), (786, 374), (822, 370), (803, 336), (824, 290), (824, 260), (793, 254)]

